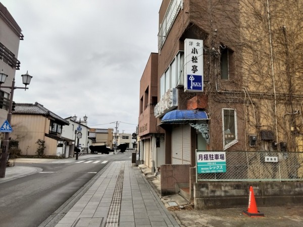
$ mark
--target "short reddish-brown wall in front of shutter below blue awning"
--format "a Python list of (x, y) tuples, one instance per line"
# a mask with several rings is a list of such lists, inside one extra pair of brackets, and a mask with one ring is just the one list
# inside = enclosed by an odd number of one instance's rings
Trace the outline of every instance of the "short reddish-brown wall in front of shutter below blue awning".
[(188, 187), (189, 164), (161, 165), (161, 196), (178, 193), (179, 187)]

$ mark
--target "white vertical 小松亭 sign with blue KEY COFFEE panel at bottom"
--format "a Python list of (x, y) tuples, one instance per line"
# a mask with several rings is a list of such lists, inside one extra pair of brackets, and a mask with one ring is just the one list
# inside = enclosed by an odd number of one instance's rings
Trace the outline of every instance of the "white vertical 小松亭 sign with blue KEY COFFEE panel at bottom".
[(203, 40), (185, 39), (184, 91), (203, 91)]

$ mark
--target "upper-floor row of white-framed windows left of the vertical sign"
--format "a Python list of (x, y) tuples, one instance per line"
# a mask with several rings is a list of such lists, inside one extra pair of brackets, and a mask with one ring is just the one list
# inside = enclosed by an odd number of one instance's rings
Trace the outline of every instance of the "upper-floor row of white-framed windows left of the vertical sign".
[(184, 52), (179, 51), (160, 78), (160, 97), (170, 88), (183, 85)]

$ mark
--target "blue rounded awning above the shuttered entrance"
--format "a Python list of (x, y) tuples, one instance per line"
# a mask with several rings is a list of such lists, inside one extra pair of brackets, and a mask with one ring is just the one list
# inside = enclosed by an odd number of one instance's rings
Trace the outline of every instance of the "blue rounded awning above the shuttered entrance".
[(207, 113), (200, 110), (172, 110), (163, 116), (162, 123), (183, 123), (196, 120), (209, 120)]

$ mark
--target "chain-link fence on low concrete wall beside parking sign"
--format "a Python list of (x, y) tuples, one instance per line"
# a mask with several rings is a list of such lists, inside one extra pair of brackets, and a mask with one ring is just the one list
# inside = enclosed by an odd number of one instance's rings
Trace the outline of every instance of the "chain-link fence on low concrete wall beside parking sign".
[(303, 152), (225, 153), (226, 173), (197, 174), (197, 181), (303, 181)]

